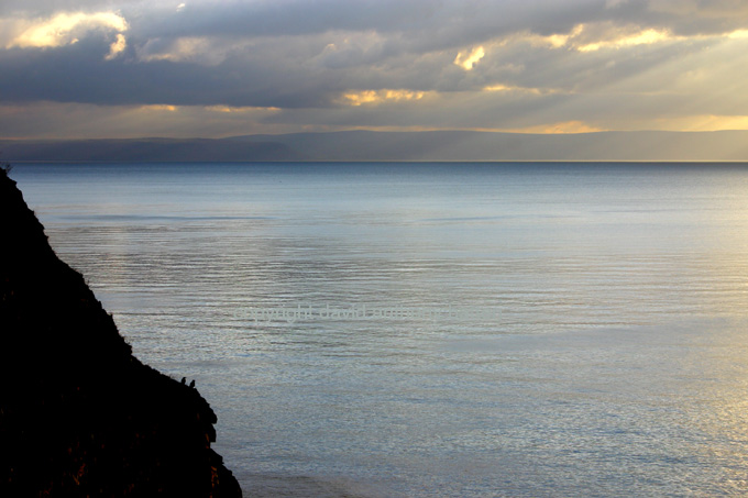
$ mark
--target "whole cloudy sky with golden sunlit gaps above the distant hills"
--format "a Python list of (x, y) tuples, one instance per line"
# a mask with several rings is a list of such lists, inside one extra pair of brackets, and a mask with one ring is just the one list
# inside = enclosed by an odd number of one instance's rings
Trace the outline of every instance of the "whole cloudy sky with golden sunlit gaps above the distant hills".
[(0, 137), (748, 130), (745, 0), (3, 0)]

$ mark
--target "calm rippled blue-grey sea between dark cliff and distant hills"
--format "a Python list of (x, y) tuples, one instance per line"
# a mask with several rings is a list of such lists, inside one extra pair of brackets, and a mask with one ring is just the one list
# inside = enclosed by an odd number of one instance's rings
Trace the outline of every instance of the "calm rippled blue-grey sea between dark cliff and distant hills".
[(748, 493), (748, 167), (26, 164), (257, 496)]

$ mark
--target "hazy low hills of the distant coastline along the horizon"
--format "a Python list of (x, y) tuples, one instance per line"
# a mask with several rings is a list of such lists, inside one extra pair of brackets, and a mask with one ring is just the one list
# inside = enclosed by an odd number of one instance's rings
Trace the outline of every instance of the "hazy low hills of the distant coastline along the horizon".
[(294, 133), (0, 140), (4, 162), (748, 162), (748, 131)]

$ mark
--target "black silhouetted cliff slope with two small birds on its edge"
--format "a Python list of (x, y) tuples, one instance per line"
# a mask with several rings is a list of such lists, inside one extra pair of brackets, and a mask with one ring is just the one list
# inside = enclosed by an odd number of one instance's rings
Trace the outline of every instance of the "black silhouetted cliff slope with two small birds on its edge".
[(132, 355), (4, 170), (0, 217), (0, 496), (241, 496), (208, 402)]

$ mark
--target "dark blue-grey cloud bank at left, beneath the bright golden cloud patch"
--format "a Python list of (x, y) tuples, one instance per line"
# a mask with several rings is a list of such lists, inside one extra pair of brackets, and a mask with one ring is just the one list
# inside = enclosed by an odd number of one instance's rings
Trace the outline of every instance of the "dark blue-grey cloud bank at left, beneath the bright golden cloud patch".
[(334, 89), (315, 82), (311, 75), (271, 64), (242, 62), (237, 67), (232, 59), (210, 68), (168, 60), (139, 64), (127, 57), (103, 60), (107, 52), (96, 41), (55, 51), (7, 51), (0, 55), (4, 74), (0, 93), (15, 102), (314, 107), (328, 100), (328, 88)]

